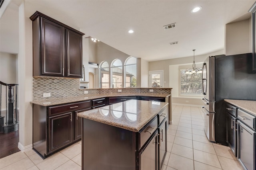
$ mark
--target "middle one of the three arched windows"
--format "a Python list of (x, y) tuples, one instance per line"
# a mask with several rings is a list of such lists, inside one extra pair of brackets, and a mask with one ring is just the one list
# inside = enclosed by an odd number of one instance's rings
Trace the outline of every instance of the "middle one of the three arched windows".
[(122, 88), (122, 61), (115, 59), (111, 64), (111, 88)]

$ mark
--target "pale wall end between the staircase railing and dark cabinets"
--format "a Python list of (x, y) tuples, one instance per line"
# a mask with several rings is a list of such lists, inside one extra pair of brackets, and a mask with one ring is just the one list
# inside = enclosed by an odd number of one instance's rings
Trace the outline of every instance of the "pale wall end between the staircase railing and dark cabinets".
[(33, 81), (33, 48), (32, 21), (25, 15), (25, 1), (19, 7), (19, 133), (18, 148), (26, 151), (32, 148), (32, 81)]

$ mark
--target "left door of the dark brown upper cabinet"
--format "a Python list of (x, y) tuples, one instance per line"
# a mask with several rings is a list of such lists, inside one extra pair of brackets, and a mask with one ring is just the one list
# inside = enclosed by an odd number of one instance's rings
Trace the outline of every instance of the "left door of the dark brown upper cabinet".
[(41, 74), (64, 76), (64, 27), (42, 18), (41, 31)]

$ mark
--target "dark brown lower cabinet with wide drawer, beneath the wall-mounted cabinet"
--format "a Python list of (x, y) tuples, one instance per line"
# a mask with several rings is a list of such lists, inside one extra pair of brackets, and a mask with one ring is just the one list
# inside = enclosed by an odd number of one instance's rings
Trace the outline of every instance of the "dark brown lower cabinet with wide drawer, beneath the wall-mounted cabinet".
[(79, 141), (82, 118), (76, 115), (90, 109), (90, 100), (58, 106), (33, 104), (33, 150), (44, 159)]

